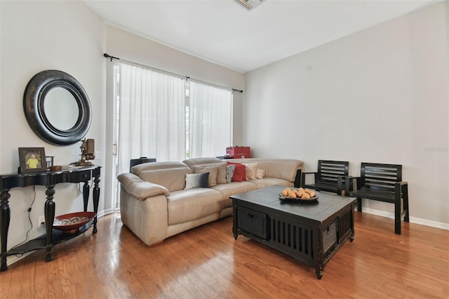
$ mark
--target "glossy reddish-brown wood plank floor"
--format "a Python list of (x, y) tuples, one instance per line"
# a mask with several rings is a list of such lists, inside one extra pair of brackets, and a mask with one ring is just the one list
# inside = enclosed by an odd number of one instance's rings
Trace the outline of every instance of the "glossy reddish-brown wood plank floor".
[(315, 270), (232, 236), (232, 218), (147, 247), (112, 214), (9, 266), (0, 298), (449, 298), (449, 231), (354, 213), (356, 235)]

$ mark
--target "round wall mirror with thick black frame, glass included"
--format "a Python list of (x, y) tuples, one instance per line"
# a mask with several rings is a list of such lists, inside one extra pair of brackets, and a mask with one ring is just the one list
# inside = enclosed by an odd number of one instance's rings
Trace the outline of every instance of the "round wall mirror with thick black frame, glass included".
[(29, 126), (53, 145), (72, 145), (91, 126), (91, 102), (74, 77), (58, 70), (34, 75), (25, 88), (23, 109)]

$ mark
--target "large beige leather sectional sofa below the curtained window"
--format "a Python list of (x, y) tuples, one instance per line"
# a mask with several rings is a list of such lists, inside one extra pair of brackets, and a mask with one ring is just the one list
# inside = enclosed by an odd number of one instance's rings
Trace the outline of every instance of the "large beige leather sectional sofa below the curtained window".
[[(242, 182), (223, 182), (227, 162), (254, 164), (264, 177)], [(217, 185), (185, 189), (186, 175), (216, 170)], [(148, 246), (207, 222), (232, 215), (233, 194), (269, 185), (295, 185), (302, 161), (295, 159), (197, 158), (133, 166), (118, 180), (121, 221)], [(213, 173), (213, 171), (210, 171)], [(298, 181), (297, 181), (298, 182)]]

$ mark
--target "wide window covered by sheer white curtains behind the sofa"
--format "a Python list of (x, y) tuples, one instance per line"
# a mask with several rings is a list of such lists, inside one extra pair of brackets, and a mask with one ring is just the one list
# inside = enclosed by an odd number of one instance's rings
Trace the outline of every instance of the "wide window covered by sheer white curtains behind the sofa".
[(130, 159), (222, 156), (232, 144), (232, 91), (121, 62), (118, 173)]

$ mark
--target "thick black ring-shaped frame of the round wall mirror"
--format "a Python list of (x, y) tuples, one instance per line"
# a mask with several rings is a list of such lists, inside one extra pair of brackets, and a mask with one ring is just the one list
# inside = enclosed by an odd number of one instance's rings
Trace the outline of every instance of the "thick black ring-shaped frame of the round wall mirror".
[[(44, 109), (46, 95), (53, 88), (65, 88), (78, 105), (76, 124), (68, 130), (56, 128), (48, 121)], [(88, 132), (91, 121), (91, 102), (83, 86), (74, 77), (55, 69), (48, 69), (34, 75), (28, 82), (23, 96), (23, 109), (29, 126), (42, 140), (53, 145), (73, 145)]]

